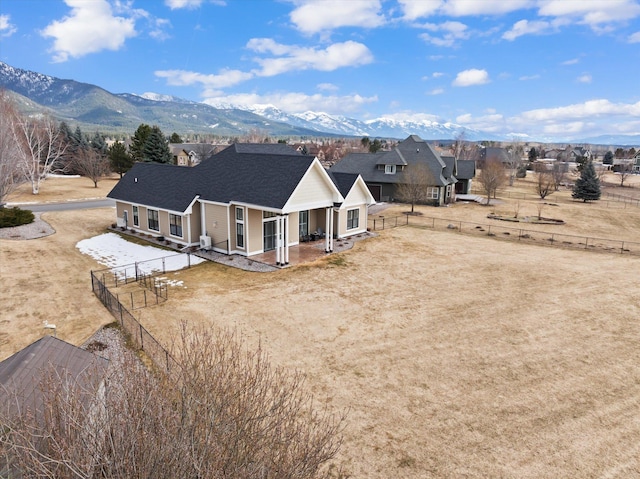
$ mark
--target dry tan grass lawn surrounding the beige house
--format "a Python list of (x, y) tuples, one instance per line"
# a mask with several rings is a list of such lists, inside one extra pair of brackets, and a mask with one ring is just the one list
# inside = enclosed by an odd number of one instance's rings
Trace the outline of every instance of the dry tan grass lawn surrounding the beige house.
[[(640, 208), (558, 204), (545, 215), (576, 234), (640, 238)], [(111, 320), (75, 243), (112, 215), (48, 213), (55, 235), (0, 240), (0, 359), (43, 319), (76, 343)], [(275, 273), (175, 276), (186, 288), (142, 323), (167, 343), (180, 319), (238, 327), (304, 371), (320, 401), (349, 408), (336, 459), (349, 477), (640, 477), (638, 257), (403, 227)]]

